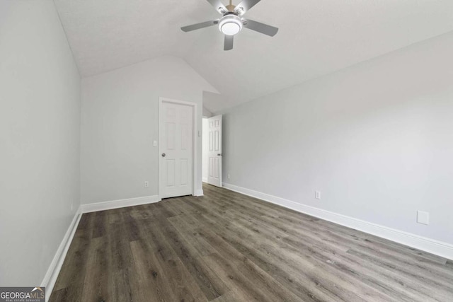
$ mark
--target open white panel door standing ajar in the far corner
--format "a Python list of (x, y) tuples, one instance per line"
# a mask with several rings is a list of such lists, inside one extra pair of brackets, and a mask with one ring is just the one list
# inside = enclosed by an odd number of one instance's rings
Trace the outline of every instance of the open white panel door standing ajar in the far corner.
[(207, 183), (222, 187), (222, 115), (211, 117), (207, 121), (210, 132)]

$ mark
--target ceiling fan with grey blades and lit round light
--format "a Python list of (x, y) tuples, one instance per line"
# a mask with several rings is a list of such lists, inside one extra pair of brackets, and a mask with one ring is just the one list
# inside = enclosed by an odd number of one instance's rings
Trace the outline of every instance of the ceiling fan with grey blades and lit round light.
[(242, 0), (240, 4), (234, 6), (232, 0), (229, 0), (229, 5), (224, 6), (220, 0), (207, 0), (217, 12), (221, 13), (223, 16), (217, 20), (206, 21), (202, 23), (196, 23), (193, 25), (184, 26), (181, 28), (184, 32), (198, 30), (200, 28), (207, 28), (212, 25), (219, 25), (219, 30), (225, 35), (225, 44), (224, 50), (233, 49), (233, 40), (234, 35), (239, 33), (242, 28), (248, 28), (250, 30), (255, 30), (258, 33), (263, 33), (273, 37), (278, 28), (275, 28), (270, 25), (266, 25), (257, 21), (250, 19), (242, 18), (242, 16), (250, 10), (255, 4), (260, 0)]

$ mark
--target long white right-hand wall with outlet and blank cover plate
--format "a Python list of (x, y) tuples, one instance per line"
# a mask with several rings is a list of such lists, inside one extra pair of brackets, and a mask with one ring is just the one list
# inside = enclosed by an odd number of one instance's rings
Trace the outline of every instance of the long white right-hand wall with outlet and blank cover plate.
[(453, 243), (452, 54), (448, 33), (226, 110), (224, 179)]

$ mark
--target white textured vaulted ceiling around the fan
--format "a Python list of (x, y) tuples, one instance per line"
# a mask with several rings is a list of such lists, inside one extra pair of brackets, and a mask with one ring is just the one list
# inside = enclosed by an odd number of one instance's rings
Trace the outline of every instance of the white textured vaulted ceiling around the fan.
[(206, 0), (54, 1), (82, 76), (182, 57), (222, 94), (212, 112), (453, 30), (452, 0), (262, 0), (246, 17), (277, 35), (243, 29), (224, 52), (217, 27), (180, 30), (219, 18)]

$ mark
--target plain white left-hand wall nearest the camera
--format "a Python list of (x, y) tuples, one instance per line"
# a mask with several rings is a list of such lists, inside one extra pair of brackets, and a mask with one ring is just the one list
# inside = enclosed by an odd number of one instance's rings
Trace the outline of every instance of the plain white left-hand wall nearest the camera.
[(41, 284), (79, 208), (79, 129), (53, 1), (0, 0), (0, 286)]

